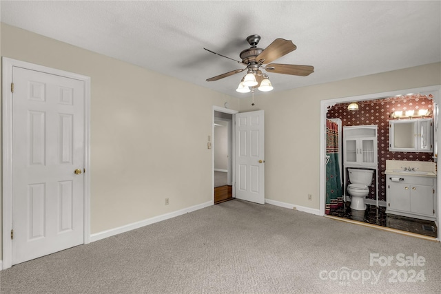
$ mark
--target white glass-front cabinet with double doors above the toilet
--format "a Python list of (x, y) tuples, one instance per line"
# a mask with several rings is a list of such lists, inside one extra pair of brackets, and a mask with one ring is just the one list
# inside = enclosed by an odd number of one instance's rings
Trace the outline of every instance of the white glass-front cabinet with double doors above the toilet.
[(343, 127), (345, 165), (377, 166), (377, 126), (357, 125)]

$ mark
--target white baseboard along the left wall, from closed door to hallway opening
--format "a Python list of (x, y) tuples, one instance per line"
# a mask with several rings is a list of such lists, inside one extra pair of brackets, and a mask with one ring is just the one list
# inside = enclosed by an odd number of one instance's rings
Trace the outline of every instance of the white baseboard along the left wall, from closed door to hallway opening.
[(107, 231), (101, 231), (99, 233), (94, 233), (90, 235), (90, 242), (95, 242), (104, 238), (112, 237), (112, 235), (118, 235), (120, 233), (125, 233), (127, 231), (132, 231), (134, 229), (139, 229), (141, 227), (145, 227), (149, 224), (154, 224), (155, 222), (161, 222), (162, 220), (168, 220), (169, 218), (175, 218), (176, 216), (181, 216), (185, 213), (189, 213), (192, 211), (196, 211), (198, 209), (203, 209), (205, 207), (209, 207), (214, 205), (213, 201), (208, 201), (202, 204), (195, 205), (193, 207), (187, 207), (185, 209), (181, 209), (178, 211), (174, 211), (171, 213), (165, 213), (161, 216), (155, 216), (154, 218), (147, 218), (147, 220), (141, 220), (139, 222), (134, 222), (132, 224), (126, 224), (122, 227), (117, 227), (114, 229), (110, 229)]

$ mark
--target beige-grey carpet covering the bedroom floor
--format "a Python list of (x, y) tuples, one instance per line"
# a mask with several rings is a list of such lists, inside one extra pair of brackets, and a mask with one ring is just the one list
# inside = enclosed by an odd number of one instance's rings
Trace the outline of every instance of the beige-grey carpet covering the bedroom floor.
[(439, 293), (440, 277), (439, 242), (233, 200), (17, 264), (0, 293)]

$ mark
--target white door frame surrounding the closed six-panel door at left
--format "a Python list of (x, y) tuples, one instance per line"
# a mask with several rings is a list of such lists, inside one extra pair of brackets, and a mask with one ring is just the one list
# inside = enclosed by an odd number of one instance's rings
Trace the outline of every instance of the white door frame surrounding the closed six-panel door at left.
[(90, 242), (90, 77), (72, 72), (65, 72), (43, 65), (18, 61), (3, 57), (2, 59), (2, 166), (3, 166), (3, 269), (12, 266), (12, 68), (23, 67), (28, 70), (45, 72), (57, 76), (65, 76), (84, 82), (84, 244)]

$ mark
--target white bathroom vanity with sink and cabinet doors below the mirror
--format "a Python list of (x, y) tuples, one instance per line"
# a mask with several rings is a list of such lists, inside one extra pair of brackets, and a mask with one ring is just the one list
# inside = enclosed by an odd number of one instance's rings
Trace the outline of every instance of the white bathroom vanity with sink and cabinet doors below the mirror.
[(387, 160), (386, 213), (436, 220), (435, 162)]

